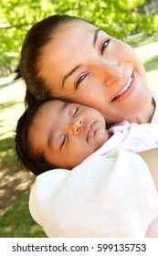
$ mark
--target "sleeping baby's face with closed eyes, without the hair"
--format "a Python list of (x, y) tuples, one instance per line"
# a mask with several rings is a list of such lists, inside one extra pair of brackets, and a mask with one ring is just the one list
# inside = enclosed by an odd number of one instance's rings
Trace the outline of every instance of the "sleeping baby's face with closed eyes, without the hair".
[(34, 153), (49, 164), (71, 169), (109, 139), (103, 116), (95, 109), (63, 101), (47, 101), (28, 130)]

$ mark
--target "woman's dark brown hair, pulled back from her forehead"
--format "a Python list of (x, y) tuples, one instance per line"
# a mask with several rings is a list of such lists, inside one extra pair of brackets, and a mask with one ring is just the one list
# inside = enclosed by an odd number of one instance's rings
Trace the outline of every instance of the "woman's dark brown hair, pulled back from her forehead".
[(31, 27), (21, 50), (21, 59), (16, 69), (16, 79), (22, 77), (26, 82), (26, 104), (53, 97), (50, 85), (39, 76), (39, 59), (42, 49), (55, 37), (58, 26), (73, 20), (82, 20), (77, 16), (48, 16)]

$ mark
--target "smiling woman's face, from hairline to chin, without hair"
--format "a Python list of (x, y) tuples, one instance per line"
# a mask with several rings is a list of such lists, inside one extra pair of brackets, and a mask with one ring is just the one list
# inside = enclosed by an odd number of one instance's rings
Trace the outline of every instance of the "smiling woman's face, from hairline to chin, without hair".
[(58, 27), (38, 67), (52, 96), (93, 107), (107, 123), (131, 119), (152, 101), (134, 50), (84, 21)]

